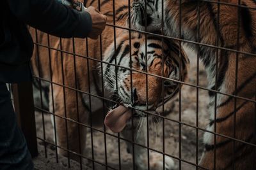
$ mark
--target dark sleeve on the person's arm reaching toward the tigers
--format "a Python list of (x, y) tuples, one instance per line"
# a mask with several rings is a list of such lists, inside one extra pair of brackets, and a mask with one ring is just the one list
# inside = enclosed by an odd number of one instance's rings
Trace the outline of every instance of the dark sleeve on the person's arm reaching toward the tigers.
[(85, 38), (92, 30), (92, 18), (86, 11), (72, 10), (55, 0), (8, 0), (19, 20), (54, 36)]

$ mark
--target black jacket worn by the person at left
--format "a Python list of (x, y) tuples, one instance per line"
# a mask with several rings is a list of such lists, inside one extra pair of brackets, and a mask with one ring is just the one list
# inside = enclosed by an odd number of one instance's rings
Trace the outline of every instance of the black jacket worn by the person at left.
[(31, 80), (33, 41), (26, 24), (54, 36), (85, 38), (92, 29), (92, 18), (55, 0), (2, 0), (0, 82)]

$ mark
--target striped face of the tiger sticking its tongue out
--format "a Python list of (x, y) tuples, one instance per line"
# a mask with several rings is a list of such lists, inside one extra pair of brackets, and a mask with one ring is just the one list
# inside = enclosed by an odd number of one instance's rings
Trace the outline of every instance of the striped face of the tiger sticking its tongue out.
[(131, 46), (127, 34), (116, 39), (116, 53), (114, 49), (112, 44), (105, 53), (105, 61), (111, 64), (104, 64), (104, 85), (119, 103), (156, 110), (177, 92), (179, 83), (172, 80), (186, 77), (188, 58), (182, 53), (180, 60), (178, 45), (167, 39), (162, 42), (161, 38), (147, 36), (146, 40), (143, 34), (132, 32)]

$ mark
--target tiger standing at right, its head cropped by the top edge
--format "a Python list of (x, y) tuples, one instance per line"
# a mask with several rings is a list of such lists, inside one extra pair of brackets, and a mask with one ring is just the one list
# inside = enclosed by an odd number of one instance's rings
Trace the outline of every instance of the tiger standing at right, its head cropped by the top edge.
[(132, 4), (133, 29), (153, 32), (163, 28), (164, 35), (184, 39), (182, 45), (195, 50), (204, 63), (210, 118), (198, 169), (256, 169), (253, 8), (256, 3), (251, 0), (134, 0)]

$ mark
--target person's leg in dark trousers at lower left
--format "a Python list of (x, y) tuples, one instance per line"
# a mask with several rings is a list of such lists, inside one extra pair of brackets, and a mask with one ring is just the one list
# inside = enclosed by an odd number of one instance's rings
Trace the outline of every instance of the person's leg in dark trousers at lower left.
[(17, 125), (10, 92), (0, 82), (0, 169), (33, 169), (26, 140)]

